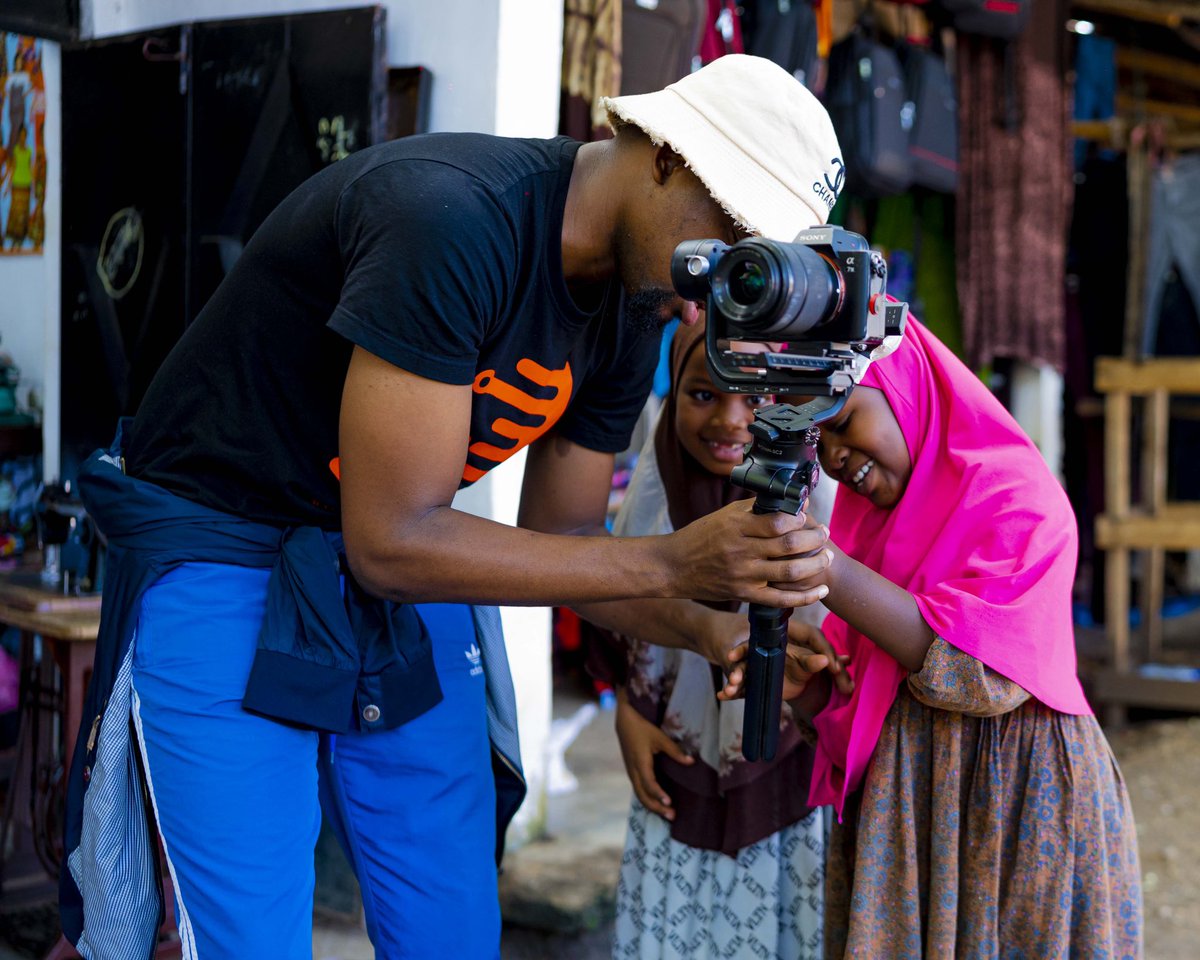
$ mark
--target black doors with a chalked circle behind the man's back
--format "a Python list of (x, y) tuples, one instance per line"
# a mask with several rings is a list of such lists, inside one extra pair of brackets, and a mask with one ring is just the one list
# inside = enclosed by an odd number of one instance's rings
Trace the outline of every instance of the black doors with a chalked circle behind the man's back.
[(270, 210), (385, 137), (384, 11), (62, 50), (62, 476), (137, 410)]

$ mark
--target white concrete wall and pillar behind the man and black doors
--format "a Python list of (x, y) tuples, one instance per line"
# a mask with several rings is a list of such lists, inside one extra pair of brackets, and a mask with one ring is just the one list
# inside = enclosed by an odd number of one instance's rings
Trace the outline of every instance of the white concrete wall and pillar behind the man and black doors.
[[(366, 6), (353, 0), (82, 0), (85, 34), (100, 38), (172, 23), (275, 16)], [(558, 126), (562, 56), (560, 0), (388, 0), (388, 60), (433, 74), (431, 127), (503, 136), (548, 137)], [(44, 397), (46, 474), (59, 470), (59, 242), (61, 174), (61, 58), (46, 44), (49, 102), (47, 252), (0, 258), (0, 348), (10, 350), (25, 383)], [(514, 457), (461, 498), (462, 509), (512, 523), (523, 458)], [(510, 841), (535, 836), (545, 809), (546, 740), (551, 715), (550, 612), (503, 611), (517, 689), (529, 799)]]

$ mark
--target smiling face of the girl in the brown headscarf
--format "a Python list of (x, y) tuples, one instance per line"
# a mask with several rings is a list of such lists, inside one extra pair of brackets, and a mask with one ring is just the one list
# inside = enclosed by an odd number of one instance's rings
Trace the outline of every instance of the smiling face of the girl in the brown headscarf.
[(704, 365), (704, 346), (700, 344), (679, 376), (676, 432), (683, 449), (701, 467), (718, 476), (728, 476), (742, 462), (743, 448), (750, 443), (754, 412), (773, 402), (767, 396), (718, 390)]

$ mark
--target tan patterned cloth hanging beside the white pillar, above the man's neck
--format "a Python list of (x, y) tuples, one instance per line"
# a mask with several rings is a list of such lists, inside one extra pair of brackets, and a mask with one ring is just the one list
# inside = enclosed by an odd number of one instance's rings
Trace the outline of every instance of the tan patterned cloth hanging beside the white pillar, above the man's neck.
[(558, 132), (577, 140), (612, 136), (601, 97), (620, 89), (620, 0), (565, 0)]

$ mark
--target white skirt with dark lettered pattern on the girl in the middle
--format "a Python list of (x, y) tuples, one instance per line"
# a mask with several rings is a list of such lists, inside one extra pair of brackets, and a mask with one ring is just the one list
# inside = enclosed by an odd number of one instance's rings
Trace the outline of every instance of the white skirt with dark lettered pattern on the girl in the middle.
[(821, 960), (823, 901), (821, 810), (728, 857), (672, 840), (635, 798), (612, 955)]

